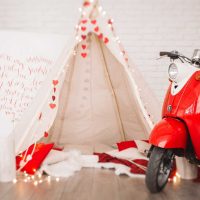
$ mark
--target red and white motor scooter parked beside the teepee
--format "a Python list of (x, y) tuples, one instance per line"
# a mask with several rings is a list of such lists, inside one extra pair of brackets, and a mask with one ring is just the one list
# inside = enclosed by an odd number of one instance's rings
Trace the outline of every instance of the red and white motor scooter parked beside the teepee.
[(171, 60), (170, 86), (165, 96), (162, 119), (153, 128), (149, 143), (146, 185), (160, 192), (168, 182), (175, 156), (200, 164), (200, 50), (192, 59), (177, 51), (160, 52)]

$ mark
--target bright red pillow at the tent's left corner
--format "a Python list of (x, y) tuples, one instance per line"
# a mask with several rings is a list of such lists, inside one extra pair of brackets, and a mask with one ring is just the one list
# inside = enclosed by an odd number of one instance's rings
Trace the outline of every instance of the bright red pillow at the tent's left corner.
[[(46, 158), (50, 150), (53, 148), (54, 143), (51, 144), (44, 144), (44, 143), (39, 143), (36, 144), (35, 151), (33, 153), (32, 159), (22, 168), (21, 171), (26, 171), (28, 174), (34, 174), (35, 171), (40, 167), (41, 163), (43, 160)], [(34, 148), (34, 144), (32, 144), (28, 148), (28, 153), (29, 155)], [(25, 152), (21, 153), (20, 155), (16, 156), (16, 168), (20, 168), (20, 162), (25, 156)], [(26, 157), (27, 159), (27, 157)]]

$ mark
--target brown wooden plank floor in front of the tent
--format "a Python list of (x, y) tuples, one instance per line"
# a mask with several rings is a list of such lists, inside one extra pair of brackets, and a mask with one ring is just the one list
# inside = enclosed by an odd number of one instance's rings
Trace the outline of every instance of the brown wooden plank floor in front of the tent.
[(112, 170), (83, 169), (59, 182), (17, 182), (0, 184), (2, 200), (196, 200), (200, 199), (200, 183), (181, 180), (170, 183), (160, 194), (150, 194), (143, 178), (116, 176)]

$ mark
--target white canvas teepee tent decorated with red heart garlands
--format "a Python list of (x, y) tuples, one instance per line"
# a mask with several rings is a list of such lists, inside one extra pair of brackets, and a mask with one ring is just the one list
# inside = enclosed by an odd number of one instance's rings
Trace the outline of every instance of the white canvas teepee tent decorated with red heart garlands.
[(98, 1), (84, 1), (75, 37), (15, 124), (16, 154), (45, 132), (62, 144), (147, 138), (158, 102), (104, 14)]

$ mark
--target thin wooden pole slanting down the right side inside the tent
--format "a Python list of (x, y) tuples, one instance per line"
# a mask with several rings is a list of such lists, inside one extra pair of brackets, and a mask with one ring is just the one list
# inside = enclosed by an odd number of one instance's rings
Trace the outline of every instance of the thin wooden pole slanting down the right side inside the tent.
[(114, 103), (114, 106), (115, 106), (115, 113), (117, 115), (117, 120), (118, 120), (118, 124), (119, 124), (121, 140), (125, 141), (126, 137), (125, 137), (124, 126), (123, 126), (121, 115), (120, 115), (119, 104), (118, 104), (117, 96), (115, 94), (114, 87), (113, 87), (113, 84), (112, 84), (112, 81), (111, 81), (111, 77), (110, 77), (110, 74), (109, 74), (109, 71), (108, 71), (108, 66), (107, 66), (106, 58), (105, 58), (105, 55), (103, 53), (102, 43), (99, 41), (99, 39), (97, 39), (96, 36), (95, 36), (95, 39), (98, 41), (100, 49), (101, 49), (101, 55), (102, 55), (102, 58), (103, 58), (103, 61), (104, 61), (103, 63), (104, 63), (105, 77), (106, 77), (107, 83), (109, 85), (109, 88), (111, 90), (111, 94), (112, 94), (112, 97), (113, 97), (113, 103)]

